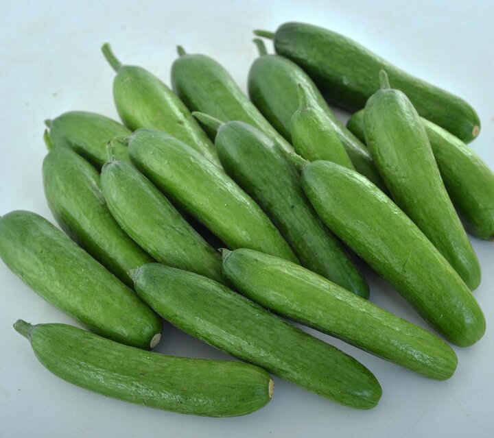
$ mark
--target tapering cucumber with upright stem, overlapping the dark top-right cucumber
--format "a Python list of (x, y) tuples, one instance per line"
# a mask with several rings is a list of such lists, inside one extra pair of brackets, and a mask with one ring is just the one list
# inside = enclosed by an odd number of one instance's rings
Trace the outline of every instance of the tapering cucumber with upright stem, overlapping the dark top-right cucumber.
[(480, 264), (441, 180), (423, 123), (408, 97), (389, 87), (366, 104), (366, 141), (397, 206), (434, 243), (470, 289), (480, 284)]

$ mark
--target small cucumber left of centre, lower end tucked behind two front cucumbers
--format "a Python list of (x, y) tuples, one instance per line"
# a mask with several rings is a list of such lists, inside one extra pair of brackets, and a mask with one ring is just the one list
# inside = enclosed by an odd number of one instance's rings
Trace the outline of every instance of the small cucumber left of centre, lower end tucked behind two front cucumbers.
[(135, 167), (123, 161), (106, 163), (102, 186), (121, 228), (158, 262), (222, 281), (220, 253)]

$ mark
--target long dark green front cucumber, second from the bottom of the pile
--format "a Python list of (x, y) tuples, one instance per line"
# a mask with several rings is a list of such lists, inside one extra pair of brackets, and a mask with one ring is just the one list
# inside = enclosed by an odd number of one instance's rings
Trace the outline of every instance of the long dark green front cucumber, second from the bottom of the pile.
[(152, 263), (134, 284), (174, 326), (228, 354), (345, 406), (371, 409), (381, 397), (364, 365), (214, 280)]

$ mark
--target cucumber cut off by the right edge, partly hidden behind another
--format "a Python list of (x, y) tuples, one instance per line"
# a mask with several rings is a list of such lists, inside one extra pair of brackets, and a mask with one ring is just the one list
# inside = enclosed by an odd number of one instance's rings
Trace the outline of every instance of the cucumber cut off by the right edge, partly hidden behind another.
[[(467, 230), (475, 237), (494, 239), (494, 172), (459, 138), (422, 119), (440, 175)], [(365, 138), (364, 110), (348, 121), (349, 130)]]

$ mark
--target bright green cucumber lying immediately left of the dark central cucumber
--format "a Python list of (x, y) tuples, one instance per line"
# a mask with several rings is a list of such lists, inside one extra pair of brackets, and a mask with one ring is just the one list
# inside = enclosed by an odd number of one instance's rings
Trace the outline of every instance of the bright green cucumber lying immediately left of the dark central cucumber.
[(163, 132), (138, 130), (128, 148), (137, 169), (225, 245), (297, 261), (252, 198), (191, 147)]

